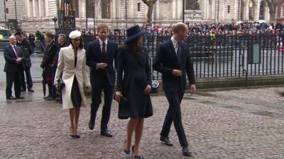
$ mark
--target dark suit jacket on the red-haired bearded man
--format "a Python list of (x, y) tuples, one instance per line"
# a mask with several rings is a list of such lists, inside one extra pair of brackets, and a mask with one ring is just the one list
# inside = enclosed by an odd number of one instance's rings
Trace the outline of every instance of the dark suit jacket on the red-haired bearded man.
[[(118, 47), (117, 44), (111, 40), (107, 40), (107, 78), (109, 85), (114, 86), (115, 71), (114, 64), (116, 66)], [(99, 40), (94, 40), (90, 42), (86, 52), (86, 64), (91, 68), (91, 80), (92, 84), (100, 85), (102, 84), (102, 77), (104, 75), (104, 70), (97, 69), (97, 63), (103, 62), (102, 50), (99, 45)]]

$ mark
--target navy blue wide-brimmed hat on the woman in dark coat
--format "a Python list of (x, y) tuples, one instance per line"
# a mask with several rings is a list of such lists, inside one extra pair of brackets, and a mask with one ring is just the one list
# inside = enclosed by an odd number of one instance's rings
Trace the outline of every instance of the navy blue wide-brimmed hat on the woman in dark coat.
[(132, 42), (133, 40), (136, 40), (142, 35), (146, 35), (147, 33), (148, 32), (146, 30), (141, 30), (139, 25), (134, 25), (126, 30), (126, 39), (124, 40), (124, 42), (127, 44), (129, 42)]

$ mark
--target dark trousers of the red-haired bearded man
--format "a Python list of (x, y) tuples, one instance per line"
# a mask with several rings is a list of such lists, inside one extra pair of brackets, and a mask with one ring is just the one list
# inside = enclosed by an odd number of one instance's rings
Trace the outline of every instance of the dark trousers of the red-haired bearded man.
[(109, 123), (112, 96), (114, 94), (114, 86), (109, 85), (106, 75), (102, 78), (101, 85), (92, 83), (91, 120), (96, 119), (97, 110), (102, 103), (102, 91), (104, 91), (104, 107), (102, 108), (101, 131), (104, 131)]

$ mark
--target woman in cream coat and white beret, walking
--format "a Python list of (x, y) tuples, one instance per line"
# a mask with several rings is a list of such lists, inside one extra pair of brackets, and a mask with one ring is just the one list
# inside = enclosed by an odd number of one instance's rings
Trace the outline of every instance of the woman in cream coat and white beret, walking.
[(70, 112), (70, 131), (73, 138), (80, 138), (77, 133), (80, 107), (86, 107), (87, 100), (84, 95), (84, 86), (91, 91), (89, 77), (86, 69), (86, 54), (82, 47), (80, 31), (74, 30), (70, 33), (69, 47), (62, 47), (59, 52), (58, 68), (55, 73), (55, 87), (58, 89), (58, 79), (62, 73), (63, 109)]

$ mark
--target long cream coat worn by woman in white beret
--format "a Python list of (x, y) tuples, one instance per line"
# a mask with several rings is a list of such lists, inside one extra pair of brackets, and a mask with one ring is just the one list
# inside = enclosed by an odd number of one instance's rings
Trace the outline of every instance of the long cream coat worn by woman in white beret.
[(57, 83), (62, 73), (62, 81), (65, 87), (62, 89), (62, 104), (63, 109), (73, 108), (74, 105), (71, 100), (72, 83), (74, 75), (76, 75), (77, 83), (80, 89), (82, 98), (81, 106), (87, 106), (87, 99), (84, 95), (84, 86), (91, 86), (89, 83), (89, 76), (86, 65), (86, 54), (84, 49), (78, 49), (77, 52), (77, 65), (75, 68), (75, 57), (72, 45), (69, 47), (62, 47), (58, 57), (58, 69), (55, 73), (54, 83)]

